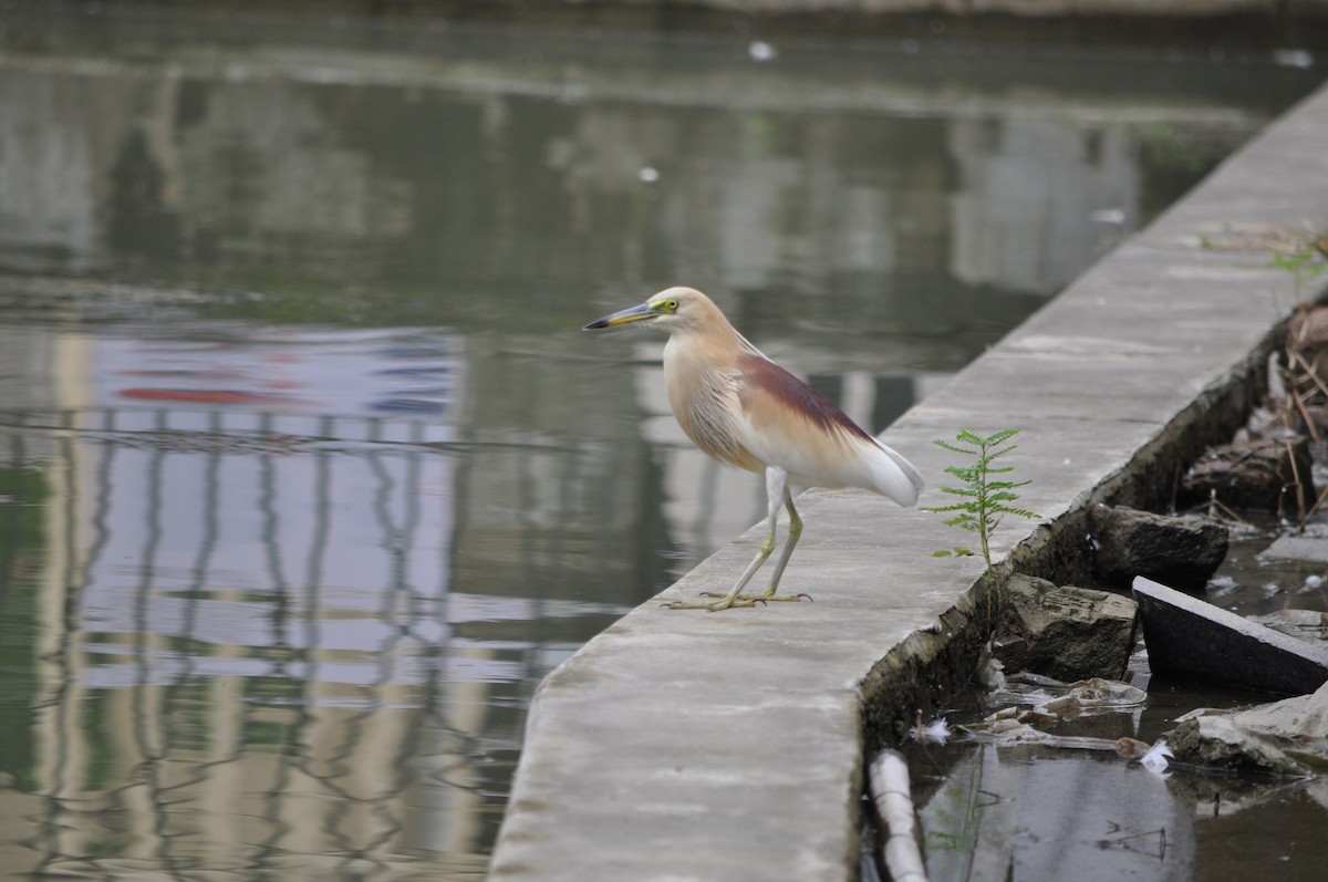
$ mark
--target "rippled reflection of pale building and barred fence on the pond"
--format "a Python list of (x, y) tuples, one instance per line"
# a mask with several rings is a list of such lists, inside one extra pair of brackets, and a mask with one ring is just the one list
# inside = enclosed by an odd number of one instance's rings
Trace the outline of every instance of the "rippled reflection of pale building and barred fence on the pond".
[(469, 450), (456, 337), (207, 331), (4, 333), (3, 861), (478, 877), (531, 689), (632, 604), (556, 549), (632, 518)]

